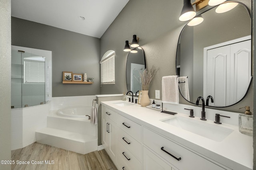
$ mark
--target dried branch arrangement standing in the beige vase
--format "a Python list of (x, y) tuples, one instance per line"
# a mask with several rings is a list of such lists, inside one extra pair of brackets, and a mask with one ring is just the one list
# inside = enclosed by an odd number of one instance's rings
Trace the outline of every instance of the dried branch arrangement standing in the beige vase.
[(149, 90), (149, 87), (152, 84), (152, 79), (154, 78), (154, 75), (158, 69), (159, 68), (156, 69), (154, 66), (152, 66), (151, 68), (146, 68), (143, 72), (140, 72), (142, 90)]

